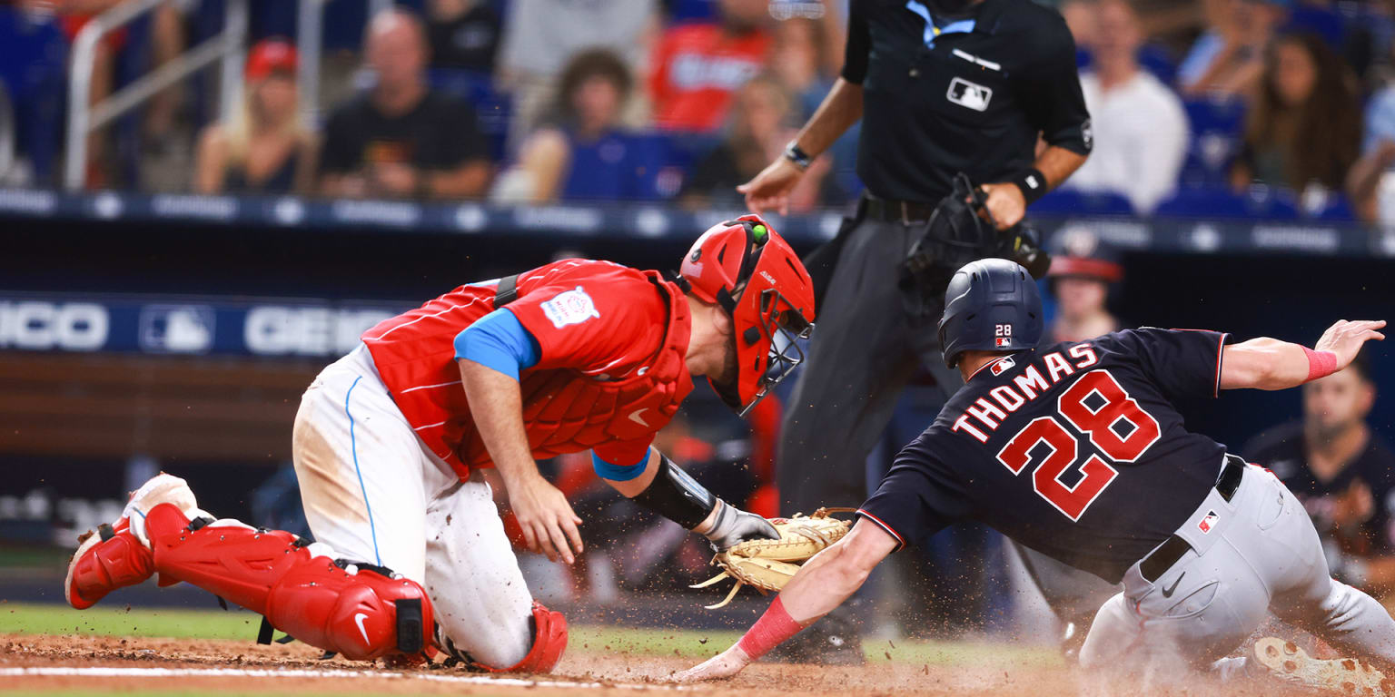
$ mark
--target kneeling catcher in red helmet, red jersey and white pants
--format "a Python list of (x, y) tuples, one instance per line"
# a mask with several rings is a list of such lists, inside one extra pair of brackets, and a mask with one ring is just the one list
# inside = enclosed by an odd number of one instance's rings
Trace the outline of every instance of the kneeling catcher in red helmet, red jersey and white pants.
[(531, 549), (575, 559), (580, 519), (536, 459), (591, 450), (596, 473), (718, 549), (778, 533), (650, 447), (707, 376), (745, 413), (797, 365), (809, 275), (756, 216), (709, 229), (678, 277), (565, 259), (460, 286), (363, 335), (306, 390), (294, 463), (315, 542), (215, 520), (160, 474), (88, 534), (64, 592), (88, 608), (159, 574), (353, 659), (438, 650), (484, 671), (548, 672), (566, 620), (534, 602), (490, 485)]

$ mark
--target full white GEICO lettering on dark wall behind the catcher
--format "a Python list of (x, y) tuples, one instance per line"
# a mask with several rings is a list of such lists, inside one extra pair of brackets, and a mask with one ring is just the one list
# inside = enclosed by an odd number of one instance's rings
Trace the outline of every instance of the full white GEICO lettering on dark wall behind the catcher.
[(265, 355), (338, 355), (359, 344), (359, 335), (392, 316), (381, 309), (262, 305), (247, 312), (247, 350)]

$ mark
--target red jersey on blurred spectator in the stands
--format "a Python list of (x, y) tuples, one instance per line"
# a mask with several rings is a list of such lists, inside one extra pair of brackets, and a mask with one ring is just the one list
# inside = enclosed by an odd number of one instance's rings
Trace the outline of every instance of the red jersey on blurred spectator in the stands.
[(675, 131), (716, 131), (731, 98), (760, 72), (770, 38), (763, 32), (728, 36), (716, 24), (668, 29), (654, 49), (650, 93), (654, 123)]

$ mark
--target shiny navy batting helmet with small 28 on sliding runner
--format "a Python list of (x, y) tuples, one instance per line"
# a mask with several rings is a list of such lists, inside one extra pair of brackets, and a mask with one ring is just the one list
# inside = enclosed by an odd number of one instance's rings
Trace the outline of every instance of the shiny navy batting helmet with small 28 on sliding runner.
[(953, 368), (964, 351), (1016, 351), (1042, 339), (1042, 298), (1017, 262), (978, 259), (954, 272), (944, 290), (940, 350)]

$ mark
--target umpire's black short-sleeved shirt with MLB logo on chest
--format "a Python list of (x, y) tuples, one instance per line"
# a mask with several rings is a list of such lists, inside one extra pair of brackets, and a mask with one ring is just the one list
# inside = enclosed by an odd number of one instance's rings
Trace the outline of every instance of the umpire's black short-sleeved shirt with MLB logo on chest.
[(882, 198), (936, 202), (1032, 166), (1036, 135), (1088, 155), (1076, 43), (1055, 10), (982, 0), (965, 18), (918, 0), (852, 0), (843, 78), (862, 85), (858, 176)]

